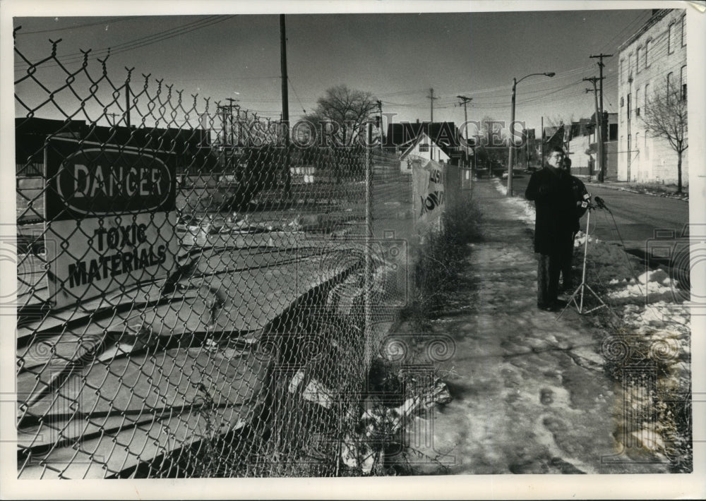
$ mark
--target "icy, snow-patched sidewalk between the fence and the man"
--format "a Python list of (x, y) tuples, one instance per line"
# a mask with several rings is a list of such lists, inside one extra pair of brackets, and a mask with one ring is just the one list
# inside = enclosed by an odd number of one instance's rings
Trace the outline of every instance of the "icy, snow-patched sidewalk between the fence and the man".
[(455, 342), (438, 363), (453, 401), (420, 418), (415, 447), (450, 454), (438, 460), (451, 474), (666, 472), (623, 451), (621, 385), (604, 373), (591, 315), (568, 309), (557, 320), (537, 309), (532, 230), (520, 208), (492, 181), (474, 183), (473, 196), (484, 241), (469, 248), (457, 303), (427, 334)]

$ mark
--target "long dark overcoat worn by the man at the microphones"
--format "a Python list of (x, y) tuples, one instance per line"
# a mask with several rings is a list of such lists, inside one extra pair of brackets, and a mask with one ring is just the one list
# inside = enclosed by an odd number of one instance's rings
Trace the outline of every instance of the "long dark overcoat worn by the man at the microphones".
[(525, 198), (534, 200), (534, 252), (561, 252), (567, 235), (578, 231), (578, 212), (571, 176), (548, 167), (532, 174)]

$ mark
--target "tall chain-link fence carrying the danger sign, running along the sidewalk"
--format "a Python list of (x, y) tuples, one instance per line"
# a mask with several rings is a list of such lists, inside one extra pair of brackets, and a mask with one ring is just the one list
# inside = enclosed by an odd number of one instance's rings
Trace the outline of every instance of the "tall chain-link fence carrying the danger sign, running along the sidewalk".
[(16, 47), (19, 478), (345, 473), (410, 176), (56, 52)]

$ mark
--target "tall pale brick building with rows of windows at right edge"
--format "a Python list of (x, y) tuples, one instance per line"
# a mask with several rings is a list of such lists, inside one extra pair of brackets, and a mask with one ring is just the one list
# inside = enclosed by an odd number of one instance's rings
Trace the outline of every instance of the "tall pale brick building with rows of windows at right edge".
[[(676, 152), (645, 133), (642, 117), (656, 92), (678, 91), (686, 99), (686, 11), (654, 9), (618, 52), (618, 180), (676, 183)], [(682, 174), (686, 186), (686, 155)]]

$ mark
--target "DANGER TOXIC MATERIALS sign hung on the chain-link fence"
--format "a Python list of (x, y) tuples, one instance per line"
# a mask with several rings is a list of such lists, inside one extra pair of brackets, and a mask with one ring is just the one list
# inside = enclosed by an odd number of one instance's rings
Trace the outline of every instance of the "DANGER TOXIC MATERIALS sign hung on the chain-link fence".
[(45, 165), (56, 308), (172, 272), (176, 177), (160, 152), (56, 138)]

